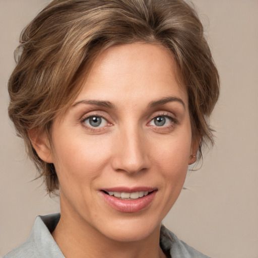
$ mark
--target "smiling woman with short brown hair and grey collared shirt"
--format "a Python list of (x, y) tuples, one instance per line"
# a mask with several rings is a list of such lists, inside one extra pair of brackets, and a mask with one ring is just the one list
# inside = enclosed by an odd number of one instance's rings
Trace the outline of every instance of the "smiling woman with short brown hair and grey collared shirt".
[(22, 33), (9, 115), (60, 214), (5, 257), (207, 257), (161, 222), (213, 143), (219, 77), (180, 0), (55, 0)]

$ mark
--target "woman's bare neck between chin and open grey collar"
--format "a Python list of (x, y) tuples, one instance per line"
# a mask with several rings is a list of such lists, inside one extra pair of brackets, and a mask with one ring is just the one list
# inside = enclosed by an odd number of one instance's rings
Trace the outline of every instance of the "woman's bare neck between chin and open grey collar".
[(117, 241), (103, 235), (78, 214), (62, 209), (52, 236), (66, 258), (165, 258), (159, 245), (160, 226), (138, 241)]

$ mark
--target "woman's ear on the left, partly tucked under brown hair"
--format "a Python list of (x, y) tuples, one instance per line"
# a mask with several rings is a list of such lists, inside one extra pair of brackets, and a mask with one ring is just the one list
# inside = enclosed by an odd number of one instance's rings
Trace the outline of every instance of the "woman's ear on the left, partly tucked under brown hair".
[(28, 135), (33, 148), (37, 152), (40, 159), (47, 163), (53, 163), (52, 151), (47, 134), (44, 132), (39, 134), (36, 128), (29, 130)]

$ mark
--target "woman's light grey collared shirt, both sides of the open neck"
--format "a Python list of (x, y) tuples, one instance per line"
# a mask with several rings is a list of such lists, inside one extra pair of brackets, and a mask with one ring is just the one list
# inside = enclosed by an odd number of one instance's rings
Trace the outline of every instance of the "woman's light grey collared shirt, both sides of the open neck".
[[(28, 239), (3, 258), (64, 258), (51, 235), (59, 219), (59, 213), (38, 216)], [(172, 258), (209, 258), (179, 240), (164, 226), (161, 226), (160, 246)]]

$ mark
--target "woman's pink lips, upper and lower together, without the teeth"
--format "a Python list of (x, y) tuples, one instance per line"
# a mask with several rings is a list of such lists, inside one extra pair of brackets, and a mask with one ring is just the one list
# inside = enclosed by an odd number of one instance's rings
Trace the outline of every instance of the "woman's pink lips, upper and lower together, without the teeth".
[[(149, 191), (150, 193), (147, 196), (144, 196), (135, 200), (121, 200), (114, 196), (107, 195), (104, 191), (118, 191), (118, 192)], [(102, 189), (100, 191), (105, 202), (111, 208), (125, 213), (139, 212), (147, 208), (154, 200), (156, 192), (157, 190), (150, 187), (134, 187), (134, 188), (114, 187), (114, 188)]]

